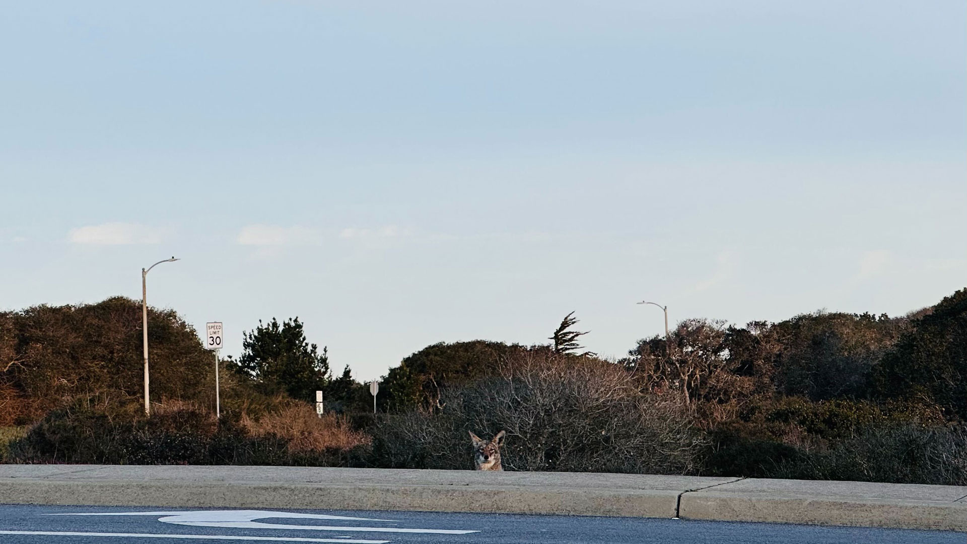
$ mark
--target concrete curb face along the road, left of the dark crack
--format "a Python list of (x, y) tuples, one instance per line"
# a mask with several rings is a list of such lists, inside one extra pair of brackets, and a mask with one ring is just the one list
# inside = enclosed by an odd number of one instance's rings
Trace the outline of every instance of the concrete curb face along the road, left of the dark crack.
[(674, 491), (517, 490), (500, 487), (194, 484), (23, 480), (0, 484), (0, 502), (98, 506), (319, 508), (675, 517)]

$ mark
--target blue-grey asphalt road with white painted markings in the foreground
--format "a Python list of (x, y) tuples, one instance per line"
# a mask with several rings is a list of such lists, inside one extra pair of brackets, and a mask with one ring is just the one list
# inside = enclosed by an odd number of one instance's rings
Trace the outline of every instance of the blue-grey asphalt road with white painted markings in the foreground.
[(964, 544), (967, 534), (641, 518), (0, 505), (0, 542)]

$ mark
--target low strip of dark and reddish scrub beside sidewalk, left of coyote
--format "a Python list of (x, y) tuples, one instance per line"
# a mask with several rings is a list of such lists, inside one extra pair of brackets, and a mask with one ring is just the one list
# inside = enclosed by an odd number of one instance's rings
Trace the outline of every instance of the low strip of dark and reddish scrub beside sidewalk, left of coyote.
[[(367, 450), (366, 437), (335, 417), (291, 403), (254, 419), (220, 420), (192, 403), (169, 402), (151, 417), (140, 407), (106, 410), (84, 403), (55, 410), (10, 444), (15, 463), (120, 465), (346, 466)], [(288, 421), (288, 423), (283, 423)]]

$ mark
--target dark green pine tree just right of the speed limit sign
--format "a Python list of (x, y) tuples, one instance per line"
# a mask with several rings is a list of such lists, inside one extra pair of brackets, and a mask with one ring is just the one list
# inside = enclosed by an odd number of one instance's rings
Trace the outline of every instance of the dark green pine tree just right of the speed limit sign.
[(243, 333), (243, 353), (233, 361), (236, 370), (251, 378), (264, 393), (284, 392), (293, 399), (311, 401), (329, 381), (327, 348), (318, 352), (309, 344), (299, 317), (281, 324), (275, 317)]

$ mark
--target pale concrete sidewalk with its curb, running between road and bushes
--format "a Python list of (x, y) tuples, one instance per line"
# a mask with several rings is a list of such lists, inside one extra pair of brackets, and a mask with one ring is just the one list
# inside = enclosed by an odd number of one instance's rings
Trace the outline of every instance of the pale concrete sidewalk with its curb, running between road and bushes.
[(967, 487), (589, 472), (0, 465), (0, 503), (679, 517), (967, 531)]

